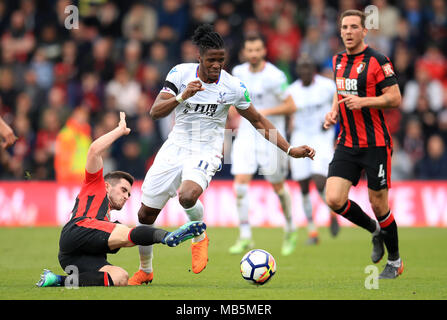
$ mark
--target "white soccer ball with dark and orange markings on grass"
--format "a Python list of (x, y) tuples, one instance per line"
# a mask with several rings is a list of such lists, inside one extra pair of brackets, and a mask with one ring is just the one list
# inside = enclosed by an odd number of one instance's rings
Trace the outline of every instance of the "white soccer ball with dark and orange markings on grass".
[(265, 250), (251, 250), (241, 260), (242, 278), (252, 284), (265, 284), (275, 275), (275, 272), (275, 259)]

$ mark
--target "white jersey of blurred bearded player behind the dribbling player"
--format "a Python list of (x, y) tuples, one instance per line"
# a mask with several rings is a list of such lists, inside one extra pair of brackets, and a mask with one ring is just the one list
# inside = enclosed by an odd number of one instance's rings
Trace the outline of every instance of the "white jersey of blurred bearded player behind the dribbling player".
[[(259, 72), (251, 72), (250, 64), (246, 62), (235, 66), (232, 74), (247, 85), (252, 103), (257, 110), (273, 108), (279, 105), (285, 98), (287, 77), (284, 72), (270, 62), (266, 62), (264, 69)], [(286, 127), (285, 116), (275, 115), (267, 118), (284, 135)], [(247, 130), (254, 132), (256, 129), (247, 119), (242, 118), (238, 132)]]

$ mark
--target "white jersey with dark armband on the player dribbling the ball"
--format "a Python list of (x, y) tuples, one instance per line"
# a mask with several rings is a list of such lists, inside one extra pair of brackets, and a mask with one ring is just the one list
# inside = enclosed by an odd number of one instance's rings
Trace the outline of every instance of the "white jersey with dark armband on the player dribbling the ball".
[[(188, 83), (200, 80), (198, 71), (198, 63), (176, 65), (168, 73), (161, 92), (176, 96)], [(201, 82), (205, 90), (175, 108), (175, 125), (168, 140), (194, 152), (206, 150), (221, 154), (228, 109), (232, 105), (247, 109), (251, 103), (250, 95), (244, 83), (225, 70), (215, 83)]]

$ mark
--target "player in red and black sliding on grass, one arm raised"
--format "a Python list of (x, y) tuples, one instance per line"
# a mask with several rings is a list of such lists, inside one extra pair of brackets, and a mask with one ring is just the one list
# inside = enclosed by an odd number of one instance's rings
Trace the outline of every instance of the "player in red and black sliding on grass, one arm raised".
[[(134, 178), (127, 172), (113, 171), (103, 177), (102, 153), (118, 138), (129, 134), (124, 112), (118, 127), (96, 139), (88, 150), (85, 179), (76, 198), (71, 219), (59, 240), (59, 263), (64, 270), (78, 271), (79, 286), (126, 286), (127, 272), (107, 261), (108, 253), (134, 245), (162, 243), (175, 247), (202, 234), (206, 225), (191, 221), (168, 232), (151, 226), (129, 228), (110, 222), (110, 210), (120, 210), (130, 197)], [(44, 270), (38, 287), (64, 285), (67, 276)], [(70, 275), (73, 277), (73, 274)]]

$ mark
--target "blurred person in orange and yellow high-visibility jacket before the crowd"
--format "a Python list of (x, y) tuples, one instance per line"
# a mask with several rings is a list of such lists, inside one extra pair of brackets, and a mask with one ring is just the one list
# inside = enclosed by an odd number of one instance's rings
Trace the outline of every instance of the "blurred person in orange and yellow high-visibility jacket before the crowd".
[(89, 112), (77, 107), (56, 137), (54, 170), (57, 182), (81, 183), (87, 151), (92, 143)]

